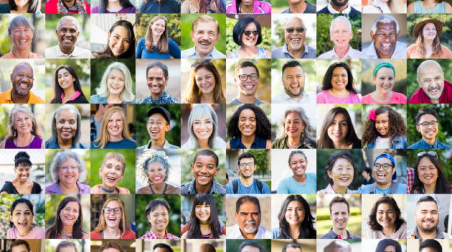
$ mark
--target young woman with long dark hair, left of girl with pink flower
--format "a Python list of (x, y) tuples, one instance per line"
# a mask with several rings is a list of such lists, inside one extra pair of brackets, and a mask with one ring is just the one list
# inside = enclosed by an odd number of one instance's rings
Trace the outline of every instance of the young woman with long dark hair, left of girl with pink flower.
[(343, 107), (334, 107), (328, 111), (317, 140), (319, 149), (361, 149), (350, 115)]

